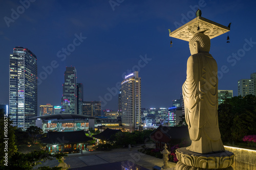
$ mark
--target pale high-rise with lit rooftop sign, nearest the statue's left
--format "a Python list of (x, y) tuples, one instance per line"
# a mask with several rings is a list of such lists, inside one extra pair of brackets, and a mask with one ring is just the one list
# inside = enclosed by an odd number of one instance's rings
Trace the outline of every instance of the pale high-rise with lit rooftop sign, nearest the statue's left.
[(141, 128), (141, 78), (135, 71), (121, 82), (122, 125), (126, 131)]

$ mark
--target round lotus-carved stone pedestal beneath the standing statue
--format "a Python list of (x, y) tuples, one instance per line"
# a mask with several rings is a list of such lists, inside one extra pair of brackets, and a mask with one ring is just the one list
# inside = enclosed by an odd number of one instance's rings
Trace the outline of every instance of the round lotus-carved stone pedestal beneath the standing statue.
[(231, 165), (234, 154), (229, 151), (199, 154), (188, 151), (186, 148), (179, 148), (176, 150), (176, 155), (179, 162), (175, 170), (233, 169)]

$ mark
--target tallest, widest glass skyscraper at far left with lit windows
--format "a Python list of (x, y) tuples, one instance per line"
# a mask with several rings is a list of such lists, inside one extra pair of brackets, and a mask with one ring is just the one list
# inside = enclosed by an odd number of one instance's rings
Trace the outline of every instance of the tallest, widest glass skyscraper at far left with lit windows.
[(9, 108), (13, 126), (26, 130), (37, 116), (37, 61), (24, 47), (13, 48), (9, 67)]

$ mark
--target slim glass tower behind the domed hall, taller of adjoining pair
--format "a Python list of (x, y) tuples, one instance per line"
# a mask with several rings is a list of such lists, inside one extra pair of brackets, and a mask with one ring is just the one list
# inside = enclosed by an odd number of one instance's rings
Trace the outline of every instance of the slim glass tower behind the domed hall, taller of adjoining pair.
[(63, 96), (61, 99), (62, 113), (77, 114), (77, 86), (75, 67), (66, 67), (64, 76)]

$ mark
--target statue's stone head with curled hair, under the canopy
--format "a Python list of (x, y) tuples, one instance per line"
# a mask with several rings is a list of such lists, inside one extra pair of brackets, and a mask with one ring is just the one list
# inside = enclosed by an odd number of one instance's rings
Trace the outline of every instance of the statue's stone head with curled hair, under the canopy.
[(189, 40), (189, 50), (191, 55), (209, 53), (210, 38), (202, 32), (196, 33), (193, 38)]

